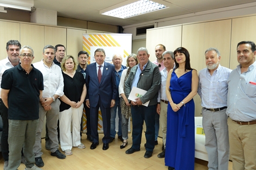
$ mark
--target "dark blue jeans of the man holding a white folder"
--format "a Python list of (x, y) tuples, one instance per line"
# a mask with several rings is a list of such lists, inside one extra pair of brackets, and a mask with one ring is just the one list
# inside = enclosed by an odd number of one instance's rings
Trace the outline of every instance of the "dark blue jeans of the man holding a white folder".
[(153, 151), (155, 148), (155, 114), (156, 105), (132, 106), (132, 148), (140, 149), (142, 141), (143, 122), (146, 123), (146, 151)]

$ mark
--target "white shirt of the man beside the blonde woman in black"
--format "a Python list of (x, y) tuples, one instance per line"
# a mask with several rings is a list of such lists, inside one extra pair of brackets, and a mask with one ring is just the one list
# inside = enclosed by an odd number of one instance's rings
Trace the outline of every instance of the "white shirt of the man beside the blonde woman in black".
[(52, 66), (48, 68), (48, 66), (43, 63), (43, 60), (36, 62), (33, 65), (43, 74), (44, 90), (42, 97), (52, 97), (54, 94), (63, 96), (64, 82), (61, 68), (54, 64), (54, 62), (52, 63)]

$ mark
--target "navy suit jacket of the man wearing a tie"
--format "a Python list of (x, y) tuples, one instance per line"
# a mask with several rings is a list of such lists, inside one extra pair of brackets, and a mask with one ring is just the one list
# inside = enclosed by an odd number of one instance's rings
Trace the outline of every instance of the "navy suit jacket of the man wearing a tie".
[(89, 99), (91, 107), (96, 107), (99, 101), (105, 108), (109, 108), (111, 100), (118, 94), (114, 65), (104, 62), (103, 74), (99, 83), (96, 63), (89, 64), (86, 68), (86, 99)]

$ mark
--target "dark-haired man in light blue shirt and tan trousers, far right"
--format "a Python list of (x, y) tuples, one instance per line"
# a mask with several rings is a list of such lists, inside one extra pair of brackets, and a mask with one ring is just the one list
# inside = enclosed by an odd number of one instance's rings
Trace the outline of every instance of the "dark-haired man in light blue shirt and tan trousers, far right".
[(256, 169), (256, 46), (237, 45), (239, 65), (228, 79), (228, 133), (233, 169)]

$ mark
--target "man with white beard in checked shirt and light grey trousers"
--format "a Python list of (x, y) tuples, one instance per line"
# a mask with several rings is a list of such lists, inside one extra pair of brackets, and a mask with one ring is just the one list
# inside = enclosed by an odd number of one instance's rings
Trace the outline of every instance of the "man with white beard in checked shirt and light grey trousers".
[(202, 99), (203, 129), (209, 169), (228, 169), (229, 141), (226, 114), (228, 77), (231, 69), (220, 66), (220, 52), (209, 48), (204, 53), (207, 68), (199, 71), (197, 93)]

